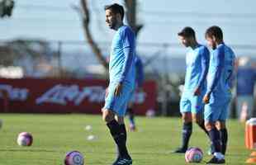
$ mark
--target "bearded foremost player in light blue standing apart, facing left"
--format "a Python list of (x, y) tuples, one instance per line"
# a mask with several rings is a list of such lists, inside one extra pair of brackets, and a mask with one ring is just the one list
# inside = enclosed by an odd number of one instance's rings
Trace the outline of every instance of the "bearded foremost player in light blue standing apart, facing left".
[(102, 108), (102, 119), (107, 122), (118, 149), (113, 165), (130, 165), (132, 159), (126, 148), (124, 115), (135, 86), (135, 33), (123, 24), (125, 12), (121, 5), (114, 3), (106, 6), (105, 12), (107, 26), (116, 34), (111, 44), (110, 82)]

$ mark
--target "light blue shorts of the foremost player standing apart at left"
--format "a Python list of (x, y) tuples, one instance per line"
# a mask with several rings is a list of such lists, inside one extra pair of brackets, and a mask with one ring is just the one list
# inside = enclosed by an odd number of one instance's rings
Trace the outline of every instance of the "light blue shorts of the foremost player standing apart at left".
[(114, 95), (116, 89), (116, 82), (111, 82), (108, 86), (108, 94), (105, 98), (105, 106), (103, 111), (114, 111), (118, 116), (126, 115), (127, 104), (130, 101), (131, 94), (133, 92), (133, 86), (127, 82), (123, 82), (121, 94), (116, 97)]

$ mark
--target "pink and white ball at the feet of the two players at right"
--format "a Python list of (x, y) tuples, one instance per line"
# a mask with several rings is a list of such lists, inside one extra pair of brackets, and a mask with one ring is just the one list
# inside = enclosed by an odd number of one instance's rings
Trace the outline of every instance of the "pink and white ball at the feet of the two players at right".
[(203, 153), (200, 148), (188, 148), (185, 153), (187, 163), (200, 163)]

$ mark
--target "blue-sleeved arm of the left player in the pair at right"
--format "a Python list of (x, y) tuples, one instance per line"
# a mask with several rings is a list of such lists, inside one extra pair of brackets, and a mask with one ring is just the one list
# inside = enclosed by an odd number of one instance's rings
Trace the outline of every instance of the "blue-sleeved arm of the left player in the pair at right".
[(198, 85), (195, 89), (194, 95), (200, 95), (200, 88), (202, 84), (206, 81), (206, 75), (208, 73), (209, 68), (209, 50), (207, 48), (204, 48), (204, 50), (201, 50), (201, 77), (199, 78)]

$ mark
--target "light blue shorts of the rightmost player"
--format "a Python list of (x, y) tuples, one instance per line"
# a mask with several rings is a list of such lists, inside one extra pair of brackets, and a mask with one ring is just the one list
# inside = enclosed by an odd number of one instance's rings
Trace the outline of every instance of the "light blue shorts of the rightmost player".
[(216, 122), (225, 121), (228, 117), (231, 97), (213, 97), (205, 106), (204, 118), (206, 121)]

